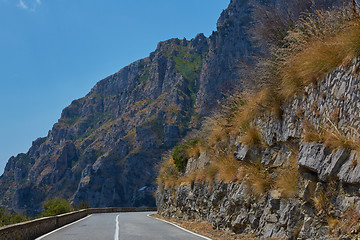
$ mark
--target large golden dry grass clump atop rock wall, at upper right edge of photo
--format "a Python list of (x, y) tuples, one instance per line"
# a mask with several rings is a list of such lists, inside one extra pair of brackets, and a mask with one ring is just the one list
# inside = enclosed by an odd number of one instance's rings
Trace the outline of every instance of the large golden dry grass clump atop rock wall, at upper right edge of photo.
[(280, 67), (281, 95), (286, 99), (292, 97), (336, 67), (346, 66), (359, 54), (359, 20), (346, 23), (334, 36), (314, 37), (301, 51), (287, 57)]

